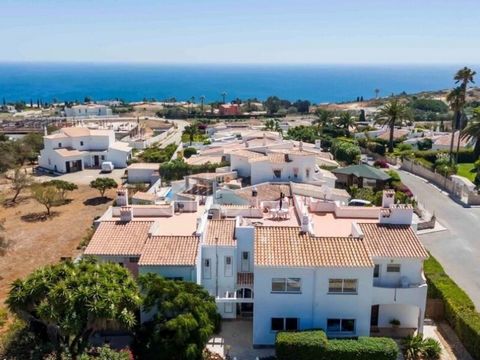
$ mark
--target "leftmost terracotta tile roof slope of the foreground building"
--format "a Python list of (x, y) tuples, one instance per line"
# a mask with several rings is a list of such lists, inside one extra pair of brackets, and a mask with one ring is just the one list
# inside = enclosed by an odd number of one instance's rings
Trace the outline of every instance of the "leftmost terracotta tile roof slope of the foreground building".
[(153, 221), (104, 221), (98, 226), (85, 255), (140, 256)]

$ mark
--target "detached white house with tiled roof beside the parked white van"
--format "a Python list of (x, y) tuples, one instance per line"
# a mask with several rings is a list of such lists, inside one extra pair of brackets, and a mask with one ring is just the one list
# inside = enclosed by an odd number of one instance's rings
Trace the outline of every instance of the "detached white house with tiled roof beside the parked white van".
[(115, 168), (127, 167), (132, 149), (127, 143), (115, 141), (113, 130), (69, 127), (43, 137), (38, 165), (59, 173), (100, 168), (111, 161)]

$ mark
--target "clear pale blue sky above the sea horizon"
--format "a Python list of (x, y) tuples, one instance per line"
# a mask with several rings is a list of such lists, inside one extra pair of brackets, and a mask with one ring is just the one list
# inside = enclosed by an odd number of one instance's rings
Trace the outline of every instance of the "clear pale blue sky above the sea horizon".
[(0, 0), (0, 61), (480, 63), (479, 0)]

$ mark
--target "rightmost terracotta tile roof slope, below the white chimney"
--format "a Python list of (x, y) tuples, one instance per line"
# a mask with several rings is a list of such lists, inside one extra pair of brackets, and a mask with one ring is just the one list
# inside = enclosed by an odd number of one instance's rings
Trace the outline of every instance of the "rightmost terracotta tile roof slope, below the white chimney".
[(372, 257), (428, 258), (428, 253), (410, 225), (358, 224)]

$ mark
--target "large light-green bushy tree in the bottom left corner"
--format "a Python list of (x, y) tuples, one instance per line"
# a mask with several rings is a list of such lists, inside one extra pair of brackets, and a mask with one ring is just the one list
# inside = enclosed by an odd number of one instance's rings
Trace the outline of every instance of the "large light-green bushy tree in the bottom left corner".
[(131, 329), (139, 304), (138, 287), (127, 269), (91, 260), (36, 270), (14, 281), (7, 299), (10, 311), (44, 329), (42, 335), (48, 334), (57, 353), (74, 358), (95, 331)]

